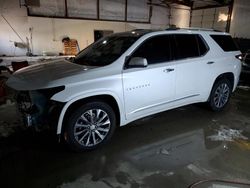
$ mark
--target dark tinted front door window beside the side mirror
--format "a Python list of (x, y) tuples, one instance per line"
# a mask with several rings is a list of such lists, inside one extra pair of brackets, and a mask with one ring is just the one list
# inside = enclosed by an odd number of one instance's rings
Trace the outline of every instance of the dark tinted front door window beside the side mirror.
[(171, 60), (168, 35), (159, 35), (146, 40), (136, 49), (132, 57), (146, 58), (148, 64), (163, 63)]

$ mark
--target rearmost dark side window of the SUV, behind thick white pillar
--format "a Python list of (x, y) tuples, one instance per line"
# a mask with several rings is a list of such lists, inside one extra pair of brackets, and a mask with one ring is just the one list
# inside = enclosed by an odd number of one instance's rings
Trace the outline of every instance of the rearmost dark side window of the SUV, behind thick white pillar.
[(239, 48), (230, 35), (210, 35), (214, 41), (225, 51), (238, 51)]

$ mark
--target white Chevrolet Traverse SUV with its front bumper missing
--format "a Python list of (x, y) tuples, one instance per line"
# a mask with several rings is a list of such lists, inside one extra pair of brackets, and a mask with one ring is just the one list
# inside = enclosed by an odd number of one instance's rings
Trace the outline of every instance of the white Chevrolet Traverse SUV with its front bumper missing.
[(75, 58), (16, 72), (28, 125), (51, 123), (74, 150), (89, 150), (123, 126), (198, 102), (223, 109), (239, 81), (241, 52), (227, 33), (134, 30), (93, 43)]

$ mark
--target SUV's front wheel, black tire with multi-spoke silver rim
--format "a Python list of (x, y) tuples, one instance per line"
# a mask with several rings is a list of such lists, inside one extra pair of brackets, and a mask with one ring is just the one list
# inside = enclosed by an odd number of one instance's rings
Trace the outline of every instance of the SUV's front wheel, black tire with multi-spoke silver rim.
[(65, 124), (64, 138), (74, 151), (93, 150), (109, 141), (115, 128), (113, 109), (102, 101), (90, 102), (70, 114)]

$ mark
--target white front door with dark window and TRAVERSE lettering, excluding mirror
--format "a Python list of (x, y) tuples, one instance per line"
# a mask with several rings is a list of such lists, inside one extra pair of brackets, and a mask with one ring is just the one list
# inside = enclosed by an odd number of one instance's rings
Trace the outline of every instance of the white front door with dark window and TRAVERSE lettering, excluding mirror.
[(137, 119), (163, 111), (175, 99), (175, 65), (171, 62), (168, 35), (143, 42), (130, 56), (146, 58), (148, 66), (123, 71), (123, 92), (127, 119)]

